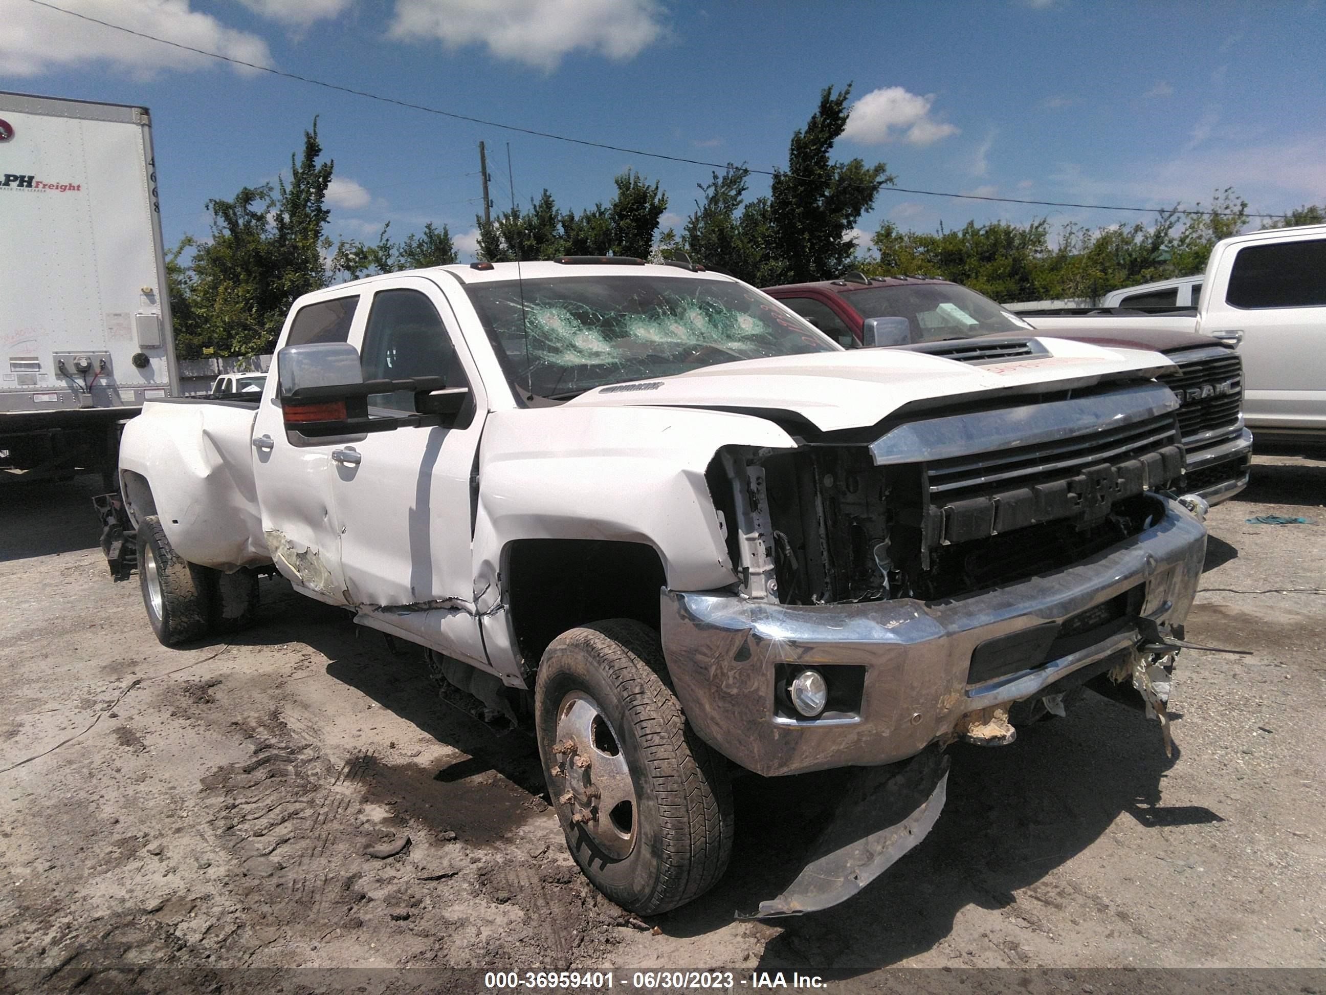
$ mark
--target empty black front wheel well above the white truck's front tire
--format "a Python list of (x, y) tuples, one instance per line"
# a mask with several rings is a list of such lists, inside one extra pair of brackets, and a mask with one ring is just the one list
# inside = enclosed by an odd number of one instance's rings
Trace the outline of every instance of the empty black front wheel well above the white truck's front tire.
[(663, 561), (643, 543), (524, 539), (507, 559), (511, 625), (530, 686), (548, 643), (568, 629), (603, 618), (659, 628)]

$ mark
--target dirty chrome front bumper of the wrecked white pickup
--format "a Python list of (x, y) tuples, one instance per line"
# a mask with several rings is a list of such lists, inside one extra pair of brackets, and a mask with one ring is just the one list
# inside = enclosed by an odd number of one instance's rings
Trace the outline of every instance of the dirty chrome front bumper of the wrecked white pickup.
[[(1123, 624), (1058, 659), (968, 683), (981, 643), (1062, 622), (1138, 585), (1138, 614), (1181, 624), (1207, 532), (1175, 501), (1154, 500), (1163, 517), (1140, 535), (1073, 566), (964, 598), (801, 606), (664, 592), (663, 651), (687, 720), (724, 756), (766, 776), (886, 764), (951, 734), (969, 711), (1033, 698), (1091, 663), (1127, 659), (1139, 637)], [(859, 708), (788, 718), (776, 700), (776, 674), (834, 665), (863, 673)]]

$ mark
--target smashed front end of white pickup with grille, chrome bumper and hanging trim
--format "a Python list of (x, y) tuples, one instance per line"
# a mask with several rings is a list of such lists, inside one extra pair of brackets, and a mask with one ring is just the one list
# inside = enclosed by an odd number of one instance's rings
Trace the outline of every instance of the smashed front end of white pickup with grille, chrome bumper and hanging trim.
[[(1114, 386), (720, 451), (707, 479), (740, 589), (663, 594), (687, 718), (765, 776), (875, 768), (761, 914), (841, 901), (919, 842), (943, 784), (903, 791), (884, 765), (1009, 743), (1102, 681), (1136, 689), (1168, 744), (1155, 637), (1181, 638), (1205, 552), (1174, 498), (1175, 407)], [(895, 783), (892, 811), (871, 811), (873, 781)]]

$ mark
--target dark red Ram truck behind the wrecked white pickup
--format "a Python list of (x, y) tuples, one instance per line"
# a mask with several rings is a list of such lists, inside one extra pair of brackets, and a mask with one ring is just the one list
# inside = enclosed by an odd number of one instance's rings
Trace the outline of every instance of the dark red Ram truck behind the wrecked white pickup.
[[(948, 280), (851, 273), (842, 280), (765, 287), (764, 292), (849, 348), (861, 345), (869, 328), (873, 345), (996, 362), (1028, 356), (1028, 340), (1049, 337), (985, 295)], [(1136, 330), (1105, 317), (1083, 324), (1081, 330), (1055, 330), (1053, 337), (1151, 349), (1177, 366), (1160, 379), (1179, 398), (1189, 491), (1216, 504), (1248, 486), (1252, 432), (1242, 421), (1237, 353), (1193, 332)]]

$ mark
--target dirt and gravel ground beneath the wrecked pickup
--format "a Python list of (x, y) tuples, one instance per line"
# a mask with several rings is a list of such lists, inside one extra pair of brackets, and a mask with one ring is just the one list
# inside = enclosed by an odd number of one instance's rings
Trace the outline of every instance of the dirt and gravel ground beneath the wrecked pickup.
[[(1172, 759), (1090, 694), (955, 747), (916, 850), (774, 923), (733, 913), (788, 878), (833, 776), (739, 780), (725, 880), (633, 922), (572, 864), (532, 740), (442, 703), (415, 654), (271, 578), (256, 629), (159, 646), (137, 576), (107, 576), (95, 491), (0, 494), (0, 987), (147, 964), (199, 988), (233, 967), (1326, 966), (1321, 455), (1260, 456), (1211, 515), (1187, 635), (1253, 653), (1181, 654)], [(1317, 524), (1245, 521), (1265, 513)]]

